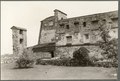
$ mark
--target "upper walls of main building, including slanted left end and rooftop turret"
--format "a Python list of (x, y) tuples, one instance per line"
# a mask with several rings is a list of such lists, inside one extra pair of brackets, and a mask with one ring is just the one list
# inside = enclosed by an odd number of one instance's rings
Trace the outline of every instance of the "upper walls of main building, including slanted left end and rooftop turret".
[[(39, 44), (56, 42), (57, 46), (66, 45), (67, 36), (72, 36), (72, 45), (96, 43), (101, 40), (98, 30), (100, 26), (109, 28), (112, 37), (118, 37), (118, 11), (73, 18), (67, 18), (67, 15), (59, 10), (55, 10), (54, 12), (54, 16), (48, 17), (41, 22)], [(62, 17), (63, 19), (60, 19)], [(52, 26), (49, 25), (51, 21), (54, 23)], [(48, 25), (45, 26), (45, 24)]]

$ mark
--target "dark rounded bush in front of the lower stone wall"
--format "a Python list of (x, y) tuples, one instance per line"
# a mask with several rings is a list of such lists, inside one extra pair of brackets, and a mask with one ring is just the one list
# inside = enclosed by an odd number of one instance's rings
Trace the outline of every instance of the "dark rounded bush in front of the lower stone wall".
[(81, 47), (73, 52), (73, 65), (76, 66), (88, 66), (93, 65), (92, 60), (89, 57), (89, 50), (85, 47)]

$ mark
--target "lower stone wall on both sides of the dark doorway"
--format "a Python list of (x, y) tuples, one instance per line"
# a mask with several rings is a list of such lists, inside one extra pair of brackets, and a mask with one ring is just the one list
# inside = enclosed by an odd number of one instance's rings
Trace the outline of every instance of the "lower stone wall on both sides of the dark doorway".
[[(98, 46), (86, 45), (86, 46), (56, 46), (54, 51), (54, 57), (73, 57), (73, 52), (78, 50), (80, 47), (87, 48), (90, 53), (89, 56), (95, 56), (96, 58), (101, 58), (101, 53), (103, 52)], [(33, 47), (28, 47), (27, 52), (33, 54), (36, 58), (52, 58), (49, 52), (33, 52)]]

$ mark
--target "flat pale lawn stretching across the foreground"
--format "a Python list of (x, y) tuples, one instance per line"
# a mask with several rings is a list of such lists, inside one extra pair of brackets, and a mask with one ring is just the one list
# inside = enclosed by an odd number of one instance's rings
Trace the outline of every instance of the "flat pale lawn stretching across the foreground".
[(35, 65), (29, 69), (13, 69), (14, 64), (1, 64), (2, 80), (52, 80), (52, 79), (117, 79), (115, 68), (64, 67)]

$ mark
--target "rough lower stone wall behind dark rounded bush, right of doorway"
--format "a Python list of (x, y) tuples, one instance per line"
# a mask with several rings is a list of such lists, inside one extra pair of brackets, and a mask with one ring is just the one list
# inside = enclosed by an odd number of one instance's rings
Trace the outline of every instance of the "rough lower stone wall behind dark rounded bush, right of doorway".
[(95, 45), (88, 45), (88, 46), (57, 46), (55, 50), (55, 56), (60, 57), (60, 56), (65, 56), (65, 57), (73, 57), (73, 52), (78, 50), (80, 47), (85, 47), (87, 48), (90, 53), (89, 56), (95, 56), (96, 58), (101, 58), (101, 52), (102, 50)]

